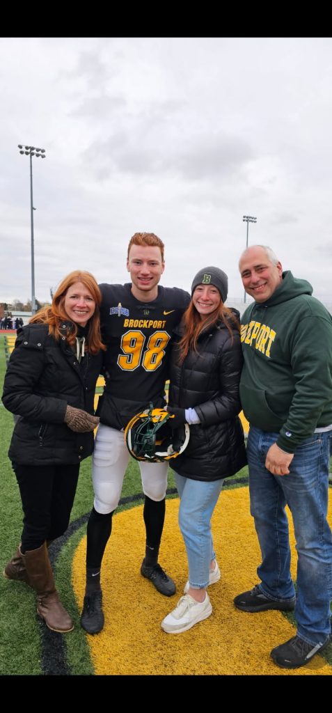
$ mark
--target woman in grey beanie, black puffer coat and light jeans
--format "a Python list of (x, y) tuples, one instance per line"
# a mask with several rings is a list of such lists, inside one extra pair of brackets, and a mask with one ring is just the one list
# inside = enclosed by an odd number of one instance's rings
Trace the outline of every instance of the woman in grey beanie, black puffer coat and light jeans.
[[(209, 617), (207, 587), (220, 578), (211, 518), (224, 478), (247, 463), (239, 411), (242, 349), (236, 314), (224, 302), (227, 275), (218, 267), (199, 270), (192, 301), (173, 347), (168, 411), (172, 427), (190, 424), (187, 448), (170, 465), (180, 495), (179, 523), (189, 578), (185, 596), (165, 619), (170, 634), (187, 631)], [(238, 314), (238, 313), (237, 313)]]

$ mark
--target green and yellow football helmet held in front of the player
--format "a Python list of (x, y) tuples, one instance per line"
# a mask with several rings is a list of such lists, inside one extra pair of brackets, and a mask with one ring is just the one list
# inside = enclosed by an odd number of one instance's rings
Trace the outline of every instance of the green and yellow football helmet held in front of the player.
[(174, 419), (165, 409), (145, 409), (133, 416), (125, 427), (125, 442), (128, 451), (136, 461), (161, 463), (176, 458), (187, 448), (190, 438), (188, 424), (172, 429)]

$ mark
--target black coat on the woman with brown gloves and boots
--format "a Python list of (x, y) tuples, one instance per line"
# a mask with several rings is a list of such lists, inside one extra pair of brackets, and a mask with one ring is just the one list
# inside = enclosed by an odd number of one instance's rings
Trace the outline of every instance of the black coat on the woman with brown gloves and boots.
[(67, 405), (93, 414), (102, 353), (85, 354), (79, 364), (66, 341), (69, 329), (71, 322), (63, 322), (59, 342), (46, 324), (19, 329), (2, 401), (20, 416), (9, 447), (9, 458), (20, 465), (81, 463), (93, 451), (93, 432), (76, 434), (63, 419)]

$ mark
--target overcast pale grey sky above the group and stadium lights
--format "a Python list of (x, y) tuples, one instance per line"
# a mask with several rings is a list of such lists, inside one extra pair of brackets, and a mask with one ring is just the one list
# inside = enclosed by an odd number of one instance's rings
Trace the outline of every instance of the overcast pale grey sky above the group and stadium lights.
[(165, 242), (162, 284), (229, 275), (246, 246), (332, 302), (332, 40), (6, 38), (0, 42), (0, 301), (71, 270), (128, 282), (134, 232)]

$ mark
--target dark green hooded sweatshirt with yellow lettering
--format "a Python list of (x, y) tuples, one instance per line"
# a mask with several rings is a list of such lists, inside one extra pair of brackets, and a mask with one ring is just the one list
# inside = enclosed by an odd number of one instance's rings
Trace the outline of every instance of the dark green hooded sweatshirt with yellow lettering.
[(251, 426), (279, 433), (277, 445), (294, 453), (332, 424), (332, 317), (309, 282), (289, 271), (282, 277), (242, 315), (240, 396)]

